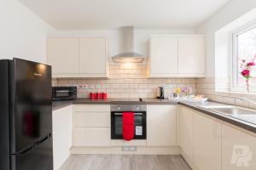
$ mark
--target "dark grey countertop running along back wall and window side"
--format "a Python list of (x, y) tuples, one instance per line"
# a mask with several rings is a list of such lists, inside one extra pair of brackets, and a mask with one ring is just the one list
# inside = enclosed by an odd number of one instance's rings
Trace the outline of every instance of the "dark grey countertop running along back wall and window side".
[(209, 109), (202, 108), (202, 105), (225, 105), (218, 102), (208, 101), (206, 103), (191, 103), (191, 102), (177, 102), (168, 99), (143, 99), (143, 101), (139, 101), (139, 99), (74, 99), (74, 100), (64, 100), (64, 101), (54, 101), (53, 102), (53, 111), (58, 110), (62, 107), (67, 105), (98, 105), (98, 104), (106, 104), (106, 105), (121, 105), (121, 104), (128, 104), (128, 105), (183, 105), (193, 109), (195, 111), (200, 111), (202, 113), (207, 114), (208, 116), (212, 116), (218, 118), (221, 121), (229, 122), (237, 127), (242, 127), (247, 129), (253, 133), (256, 133), (256, 124), (241, 121), (240, 119), (225, 116), (224, 114), (218, 113), (216, 111), (211, 111)]

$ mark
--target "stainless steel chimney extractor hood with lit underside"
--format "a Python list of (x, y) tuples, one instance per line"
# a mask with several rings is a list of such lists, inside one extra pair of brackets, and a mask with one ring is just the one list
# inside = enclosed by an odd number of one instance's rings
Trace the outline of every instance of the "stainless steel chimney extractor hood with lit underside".
[(123, 34), (123, 53), (112, 57), (117, 63), (142, 63), (145, 56), (134, 52), (133, 26), (124, 26), (121, 28)]

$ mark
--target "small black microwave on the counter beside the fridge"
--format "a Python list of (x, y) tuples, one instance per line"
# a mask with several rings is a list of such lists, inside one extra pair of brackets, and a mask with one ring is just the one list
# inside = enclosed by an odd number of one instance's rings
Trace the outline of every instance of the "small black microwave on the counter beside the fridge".
[(77, 87), (53, 87), (52, 100), (77, 99)]

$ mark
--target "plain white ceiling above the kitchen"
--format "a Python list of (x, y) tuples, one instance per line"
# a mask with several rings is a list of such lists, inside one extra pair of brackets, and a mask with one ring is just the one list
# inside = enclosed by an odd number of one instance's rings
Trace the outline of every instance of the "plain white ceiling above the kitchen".
[(57, 29), (189, 29), (230, 0), (20, 0)]

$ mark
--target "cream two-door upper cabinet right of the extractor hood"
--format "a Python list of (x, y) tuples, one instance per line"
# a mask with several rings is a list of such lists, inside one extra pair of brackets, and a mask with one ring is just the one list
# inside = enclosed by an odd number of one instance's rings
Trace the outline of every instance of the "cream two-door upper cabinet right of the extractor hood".
[(203, 36), (152, 36), (148, 77), (204, 77)]

